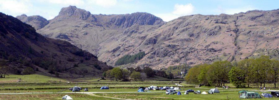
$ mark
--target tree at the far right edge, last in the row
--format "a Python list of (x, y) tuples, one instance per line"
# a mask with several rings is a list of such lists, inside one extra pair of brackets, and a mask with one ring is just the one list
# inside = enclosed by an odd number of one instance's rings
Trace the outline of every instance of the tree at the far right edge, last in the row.
[(270, 76), (270, 79), (274, 83), (274, 88), (276, 88), (276, 82), (278, 80), (279, 76), (279, 61), (278, 60), (271, 60), (270, 67), (268, 68), (268, 74)]

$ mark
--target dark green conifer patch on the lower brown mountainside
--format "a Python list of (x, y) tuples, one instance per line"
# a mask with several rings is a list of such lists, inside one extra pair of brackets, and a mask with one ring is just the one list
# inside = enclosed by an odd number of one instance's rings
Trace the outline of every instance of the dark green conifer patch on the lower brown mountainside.
[(128, 64), (128, 63), (134, 63), (135, 61), (142, 59), (144, 55), (145, 55), (144, 51), (139, 52), (135, 55), (130, 55), (130, 54), (124, 55), (123, 57), (118, 59), (114, 65), (118, 66), (118, 65)]

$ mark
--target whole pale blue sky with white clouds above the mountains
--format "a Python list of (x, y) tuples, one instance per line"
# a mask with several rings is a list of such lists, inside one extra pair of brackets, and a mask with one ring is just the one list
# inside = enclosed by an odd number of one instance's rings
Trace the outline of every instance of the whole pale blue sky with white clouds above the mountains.
[(17, 16), (40, 15), (47, 20), (62, 7), (76, 6), (91, 14), (147, 12), (170, 21), (180, 16), (235, 14), (250, 10), (274, 10), (279, 0), (0, 0), (0, 12)]

